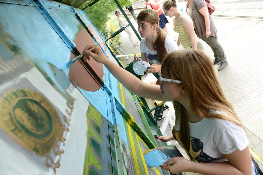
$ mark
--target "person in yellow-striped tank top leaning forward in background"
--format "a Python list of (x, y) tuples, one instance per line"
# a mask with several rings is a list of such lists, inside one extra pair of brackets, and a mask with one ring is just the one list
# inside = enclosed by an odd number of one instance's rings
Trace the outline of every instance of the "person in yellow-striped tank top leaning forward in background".
[(178, 46), (181, 43), (184, 48), (204, 50), (201, 40), (194, 33), (192, 19), (177, 8), (176, 0), (165, 1), (163, 10), (166, 16), (173, 17), (173, 30), (179, 34)]

